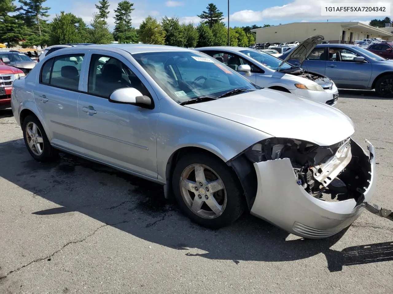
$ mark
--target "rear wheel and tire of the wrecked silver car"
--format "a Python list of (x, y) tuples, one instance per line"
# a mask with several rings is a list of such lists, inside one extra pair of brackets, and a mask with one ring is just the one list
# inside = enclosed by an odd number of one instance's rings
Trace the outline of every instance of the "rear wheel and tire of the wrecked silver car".
[(26, 118), (23, 120), (22, 131), (26, 147), (30, 155), (35, 160), (40, 162), (48, 162), (55, 158), (57, 152), (50, 145), (44, 128), (37, 117), (32, 115), (26, 116)]

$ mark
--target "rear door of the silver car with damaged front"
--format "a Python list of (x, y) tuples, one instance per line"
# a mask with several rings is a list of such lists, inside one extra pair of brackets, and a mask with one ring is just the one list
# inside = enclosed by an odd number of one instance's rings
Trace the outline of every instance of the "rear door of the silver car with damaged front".
[(81, 152), (82, 148), (77, 105), (83, 59), (84, 54), (79, 53), (47, 60), (42, 66), (39, 83), (31, 87), (51, 142), (75, 152)]

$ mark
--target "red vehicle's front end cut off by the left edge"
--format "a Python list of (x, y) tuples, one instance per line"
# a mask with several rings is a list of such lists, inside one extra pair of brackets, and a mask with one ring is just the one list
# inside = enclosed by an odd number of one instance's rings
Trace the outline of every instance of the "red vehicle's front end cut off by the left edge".
[(23, 71), (4, 64), (0, 59), (0, 110), (11, 107), (12, 83), (24, 75)]

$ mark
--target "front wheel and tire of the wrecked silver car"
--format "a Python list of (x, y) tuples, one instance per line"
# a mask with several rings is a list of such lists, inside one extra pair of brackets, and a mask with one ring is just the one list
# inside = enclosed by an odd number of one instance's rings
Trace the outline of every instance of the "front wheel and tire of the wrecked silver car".
[[(200, 180), (202, 174), (205, 180)], [(204, 181), (202, 185), (201, 181)], [(215, 156), (195, 153), (181, 157), (173, 172), (172, 186), (180, 210), (203, 227), (225, 227), (244, 211), (243, 191), (237, 175)]]

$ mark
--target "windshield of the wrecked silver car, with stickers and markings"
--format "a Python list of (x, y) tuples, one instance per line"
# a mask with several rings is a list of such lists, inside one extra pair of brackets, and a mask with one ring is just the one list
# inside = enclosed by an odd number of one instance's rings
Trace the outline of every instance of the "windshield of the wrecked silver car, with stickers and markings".
[(154, 81), (177, 103), (217, 98), (234, 89), (260, 89), (221, 62), (200, 52), (132, 54)]

